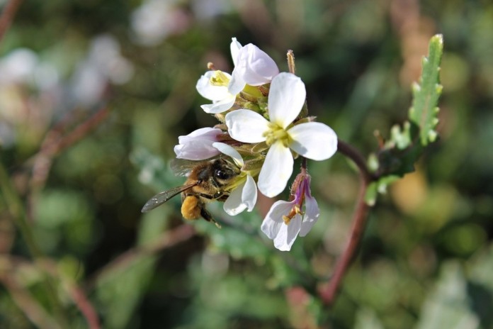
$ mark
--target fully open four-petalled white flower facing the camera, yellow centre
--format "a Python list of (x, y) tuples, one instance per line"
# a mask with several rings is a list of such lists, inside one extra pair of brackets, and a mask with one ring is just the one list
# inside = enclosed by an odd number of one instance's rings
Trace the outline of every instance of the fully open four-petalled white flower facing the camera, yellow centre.
[(291, 126), (305, 104), (305, 84), (294, 74), (283, 72), (273, 78), (268, 94), (270, 121), (254, 111), (227, 113), (229, 135), (243, 143), (266, 142), (270, 146), (259, 174), (262, 194), (273, 197), (283, 191), (293, 173), (291, 150), (312, 160), (327, 160), (337, 150), (334, 130), (323, 123)]

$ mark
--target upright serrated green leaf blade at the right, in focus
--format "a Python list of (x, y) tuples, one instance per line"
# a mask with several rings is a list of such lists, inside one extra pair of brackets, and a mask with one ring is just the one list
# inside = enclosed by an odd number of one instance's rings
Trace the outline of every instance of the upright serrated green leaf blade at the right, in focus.
[(438, 123), (438, 98), (441, 95), (440, 62), (443, 54), (443, 36), (437, 34), (429, 43), (429, 55), (422, 61), (423, 69), (419, 84), (412, 87), (413, 102), (409, 109), (409, 120), (419, 126), (419, 140), (426, 146), (436, 140), (434, 130)]

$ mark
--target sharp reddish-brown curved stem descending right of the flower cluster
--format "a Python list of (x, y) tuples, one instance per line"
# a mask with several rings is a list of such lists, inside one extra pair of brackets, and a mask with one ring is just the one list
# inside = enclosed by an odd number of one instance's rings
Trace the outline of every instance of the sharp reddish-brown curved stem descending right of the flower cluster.
[(351, 237), (349, 238), (348, 245), (336, 263), (334, 274), (332, 275), (329, 284), (319, 291), (322, 301), (327, 305), (331, 305), (336, 298), (341, 281), (351, 264), (351, 260), (353, 260), (361, 236), (365, 230), (366, 218), (368, 216), (368, 210), (370, 209), (370, 206), (365, 202), (365, 194), (372, 177), (366, 167), (365, 158), (358, 150), (341, 140), (338, 141), (338, 150), (343, 155), (353, 160), (360, 170), (361, 186), (358, 192), (358, 200), (356, 201), (356, 209), (353, 213), (353, 226), (351, 228)]

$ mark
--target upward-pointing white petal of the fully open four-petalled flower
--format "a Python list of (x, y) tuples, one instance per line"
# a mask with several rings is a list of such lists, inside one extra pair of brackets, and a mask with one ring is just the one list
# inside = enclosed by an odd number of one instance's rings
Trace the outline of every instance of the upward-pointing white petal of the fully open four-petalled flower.
[(295, 74), (282, 72), (276, 75), (268, 91), (268, 115), (272, 123), (286, 128), (300, 114), (305, 104), (305, 84)]

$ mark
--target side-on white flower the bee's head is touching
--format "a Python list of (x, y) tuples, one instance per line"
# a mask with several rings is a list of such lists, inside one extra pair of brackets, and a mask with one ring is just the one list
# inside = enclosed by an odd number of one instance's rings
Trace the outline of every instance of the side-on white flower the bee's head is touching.
[(230, 216), (235, 216), (245, 209), (248, 209), (248, 211), (254, 210), (257, 197), (256, 184), (250, 172), (243, 170), (244, 162), (242, 156), (237, 150), (225, 143), (213, 143), (212, 146), (231, 157), (234, 163), (242, 169), (242, 174), (239, 175), (237, 182), (238, 186), (233, 189), (225, 201), (225, 212)]

